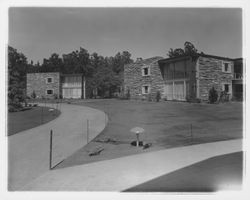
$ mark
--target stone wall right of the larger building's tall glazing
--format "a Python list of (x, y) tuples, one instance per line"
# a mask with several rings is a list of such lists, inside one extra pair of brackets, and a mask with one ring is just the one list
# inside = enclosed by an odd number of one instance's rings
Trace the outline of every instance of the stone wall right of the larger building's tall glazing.
[[(230, 63), (231, 73), (222, 71), (223, 62)], [(203, 101), (207, 101), (209, 97), (209, 90), (212, 87), (214, 87), (219, 94), (222, 91), (223, 84), (229, 84), (229, 87), (232, 88), (233, 64), (233, 61), (230, 60), (221, 60), (202, 56), (199, 57), (197, 60), (197, 65), (199, 67), (199, 96), (197, 98), (200, 98)], [(231, 96), (232, 95), (230, 95), (230, 97)]]

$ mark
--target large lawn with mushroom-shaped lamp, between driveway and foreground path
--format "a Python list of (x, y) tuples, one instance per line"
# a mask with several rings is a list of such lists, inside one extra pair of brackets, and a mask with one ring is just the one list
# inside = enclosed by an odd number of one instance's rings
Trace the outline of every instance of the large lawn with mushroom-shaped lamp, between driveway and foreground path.
[[(58, 168), (147, 151), (242, 138), (241, 102), (212, 105), (111, 99), (82, 101), (76, 104), (105, 111), (109, 122), (100, 135), (66, 159)], [(130, 145), (135, 140), (130, 129), (137, 126), (145, 129), (141, 138), (146, 143), (152, 143), (150, 148), (143, 150)], [(100, 142), (107, 138), (116, 142)], [(100, 155), (90, 157), (89, 151), (98, 147), (104, 150)]]

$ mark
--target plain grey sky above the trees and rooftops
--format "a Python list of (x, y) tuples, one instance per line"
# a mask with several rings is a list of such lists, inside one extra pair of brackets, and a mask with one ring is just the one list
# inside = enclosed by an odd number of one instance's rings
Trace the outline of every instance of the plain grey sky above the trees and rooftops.
[(9, 45), (35, 63), (83, 47), (89, 53), (167, 57), (185, 41), (206, 54), (242, 57), (240, 8), (9, 9)]

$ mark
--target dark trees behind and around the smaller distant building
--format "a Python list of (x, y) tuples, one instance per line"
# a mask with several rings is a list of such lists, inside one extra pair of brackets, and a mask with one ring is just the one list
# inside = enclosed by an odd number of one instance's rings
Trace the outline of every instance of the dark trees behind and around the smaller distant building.
[(81, 73), (87, 79), (88, 96), (97, 89), (101, 97), (111, 97), (123, 83), (124, 65), (133, 63), (128, 51), (115, 56), (104, 57), (80, 48), (60, 57), (53, 53), (43, 62), (28, 62), (27, 57), (17, 49), (8, 47), (8, 101), (9, 105), (20, 106), (25, 99), (26, 73), (60, 72), (63, 74)]

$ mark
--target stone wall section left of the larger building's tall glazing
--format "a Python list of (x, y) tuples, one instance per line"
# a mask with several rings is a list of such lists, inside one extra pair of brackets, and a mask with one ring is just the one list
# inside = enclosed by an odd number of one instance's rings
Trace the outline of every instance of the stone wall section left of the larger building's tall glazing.
[[(124, 92), (129, 89), (130, 97), (132, 99), (148, 98), (155, 99), (156, 92), (160, 91), (163, 95), (164, 81), (157, 63), (162, 57), (153, 57), (145, 60), (135, 62), (133, 64), (124, 66)], [(150, 75), (143, 76), (143, 66), (150, 67)], [(142, 94), (142, 86), (150, 86), (150, 94)]]

